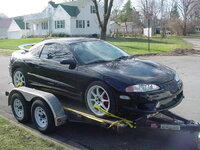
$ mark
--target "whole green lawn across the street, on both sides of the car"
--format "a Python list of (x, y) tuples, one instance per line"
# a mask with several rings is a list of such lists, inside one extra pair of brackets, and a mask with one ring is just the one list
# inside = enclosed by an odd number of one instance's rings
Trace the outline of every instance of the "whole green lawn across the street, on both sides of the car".
[[(21, 44), (38, 43), (41, 40), (42, 38), (0, 40), (0, 53), (9, 54), (12, 52), (3, 52), (1, 49), (18, 49), (18, 46)], [(123, 49), (129, 54), (149, 53), (147, 38), (108, 38), (107, 41)], [(150, 53), (162, 53), (177, 48), (192, 48), (192, 45), (186, 43), (182, 40), (182, 37), (178, 36), (168, 36), (165, 39), (161, 39), (158, 36), (154, 36), (153, 38), (151, 38), (150, 47)]]

